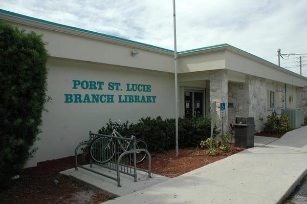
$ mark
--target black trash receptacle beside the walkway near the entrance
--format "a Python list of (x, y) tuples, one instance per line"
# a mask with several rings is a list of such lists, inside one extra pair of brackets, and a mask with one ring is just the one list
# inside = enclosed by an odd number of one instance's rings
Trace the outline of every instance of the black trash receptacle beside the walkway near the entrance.
[(234, 146), (254, 147), (255, 120), (253, 117), (235, 117)]

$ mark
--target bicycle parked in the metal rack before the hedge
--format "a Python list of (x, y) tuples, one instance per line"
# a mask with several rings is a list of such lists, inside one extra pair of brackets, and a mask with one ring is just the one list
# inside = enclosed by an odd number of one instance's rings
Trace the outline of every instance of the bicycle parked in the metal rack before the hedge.
[[(114, 137), (124, 138), (119, 132), (113, 129), (112, 135)], [(114, 137), (97, 137), (95, 138), (90, 145), (90, 156), (91, 159), (98, 164), (105, 164), (112, 160), (116, 153), (115, 142), (119, 145), (119, 148), (122, 151), (129, 151), (134, 149), (134, 144), (131, 141), (116, 139), (113, 141)], [(147, 144), (143, 139), (136, 140), (136, 149), (146, 149)], [(139, 164), (146, 158), (147, 154), (144, 151), (136, 152), (136, 163)], [(130, 160), (134, 162), (133, 157), (130, 157)]]

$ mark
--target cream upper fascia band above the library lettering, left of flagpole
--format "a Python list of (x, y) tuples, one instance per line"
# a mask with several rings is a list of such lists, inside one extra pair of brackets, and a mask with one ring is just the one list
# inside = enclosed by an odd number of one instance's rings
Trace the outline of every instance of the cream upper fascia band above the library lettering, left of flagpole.
[[(13, 22), (10, 22), (10, 24), (17, 26), (19, 29), (43, 34), (43, 40), (48, 43), (46, 48), (53, 57), (165, 72), (173, 72), (174, 70), (173, 56), (171, 53), (164, 54), (137, 48), (134, 45), (129, 46), (106, 42), (105, 40), (101, 40), (100, 38), (102, 37), (98, 35), (93, 36), (76, 31), (67, 33), (68, 30), (61, 32), (52, 30), (51, 28), (47, 29)], [(132, 57), (132, 49), (139, 50), (139, 54)]]

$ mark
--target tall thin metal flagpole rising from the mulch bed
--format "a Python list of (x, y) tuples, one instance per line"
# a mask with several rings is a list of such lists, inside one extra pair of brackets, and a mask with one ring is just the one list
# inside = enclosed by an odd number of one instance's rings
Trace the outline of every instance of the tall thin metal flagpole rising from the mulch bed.
[(178, 148), (178, 82), (177, 82), (177, 42), (176, 42), (176, 6), (173, 0), (173, 26), (174, 26), (174, 63), (175, 63), (175, 107), (176, 107), (176, 156), (179, 154)]

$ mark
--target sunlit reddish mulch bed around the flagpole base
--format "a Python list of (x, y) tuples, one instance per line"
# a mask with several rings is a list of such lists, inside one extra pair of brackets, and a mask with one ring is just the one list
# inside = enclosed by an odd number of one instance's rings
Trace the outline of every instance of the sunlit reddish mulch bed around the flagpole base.
[[(217, 156), (209, 156), (208, 149), (202, 148), (179, 150), (178, 157), (175, 150), (152, 154), (151, 171), (167, 177), (176, 177), (245, 150), (244, 148), (236, 148), (233, 144), (230, 144), (230, 147), (232, 152), (218, 151)], [(147, 169), (147, 165), (148, 159), (145, 158), (138, 167)]]

